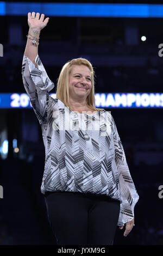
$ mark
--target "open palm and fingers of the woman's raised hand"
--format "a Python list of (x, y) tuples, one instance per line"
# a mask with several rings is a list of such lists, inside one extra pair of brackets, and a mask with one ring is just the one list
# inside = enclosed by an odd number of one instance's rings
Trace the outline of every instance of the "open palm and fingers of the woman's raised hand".
[[(33, 13), (28, 13), (28, 25), (30, 28), (37, 28), (37, 29), (42, 29), (44, 27), (46, 27), (48, 21), (49, 21), (49, 17), (47, 17), (45, 20), (45, 15), (44, 14), (40, 14), (36, 13), (35, 16), (35, 12), (33, 11)], [(44, 20), (44, 21), (43, 21)]]

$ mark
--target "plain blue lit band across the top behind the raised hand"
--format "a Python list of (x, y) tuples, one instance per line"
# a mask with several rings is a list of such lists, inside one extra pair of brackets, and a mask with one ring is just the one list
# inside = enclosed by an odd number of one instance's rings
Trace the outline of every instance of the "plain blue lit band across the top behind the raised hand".
[(162, 4), (0, 2), (0, 15), (27, 16), (32, 11), (62, 17), (163, 17)]

